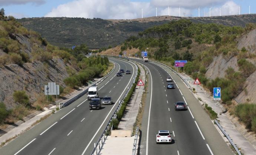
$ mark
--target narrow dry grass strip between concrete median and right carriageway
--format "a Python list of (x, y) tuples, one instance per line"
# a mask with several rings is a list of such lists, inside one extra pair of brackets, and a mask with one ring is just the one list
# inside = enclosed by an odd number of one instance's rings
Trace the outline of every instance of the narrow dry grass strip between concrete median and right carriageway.
[[(143, 66), (142, 66), (143, 67)], [(146, 70), (145, 68), (143, 67), (145, 73), (146, 73)], [(148, 79), (148, 75), (146, 75), (146, 79)], [(148, 81), (148, 80), (147, 80)], [(143, 113), (144, 113), (144, 107), (145, 107), (145, 104), (146, 104), (146, 97), (147, 97), (147, 92), (148, 92), (148, 82), (144, 82), (144, 88), (145, 88), (145, 93), (142, 94), (142, 98), (141, 98), (141, 107), (138, 111), (138, 115), (136, 117), (136, 121), (133, 125), (133, 131), (132, 131), (132, 134), (134, 135), (135, 134), (135, 131), (136, 131), (136, 127), (139, 127), (141, 128), (141, 122), (142, 122), (142, 117), (143, 117)]]

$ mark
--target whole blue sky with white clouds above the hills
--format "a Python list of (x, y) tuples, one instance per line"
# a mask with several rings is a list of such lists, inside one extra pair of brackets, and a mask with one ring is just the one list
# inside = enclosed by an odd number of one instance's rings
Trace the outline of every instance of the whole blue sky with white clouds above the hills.
[(240, 14), (249, 14), (249, 6), (250, 13), (256, 13), (256, 0), (0, 0), (0, 8), (15, 18), (134, 19), (142, 17), (142, 10), (143, 17), (167, 16), (168, 12), (181, 17), (224, 16), (239, 14), (239, 6)]

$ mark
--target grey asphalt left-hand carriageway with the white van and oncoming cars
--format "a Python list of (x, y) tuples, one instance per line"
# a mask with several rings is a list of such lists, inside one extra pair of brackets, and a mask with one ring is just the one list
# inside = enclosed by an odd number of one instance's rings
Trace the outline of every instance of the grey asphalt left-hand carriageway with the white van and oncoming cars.
[[(110, 58), (116, 64), (115, 71), (98, 85), (99, 96), (111, 96), (117, 103), (127, 90), (135, 75), (135, 66)], [(131, 70), (132, 73), (116, 77), (120, 70)], [(93, 143), (98, 141), (108, 119), (118, 104), (103, 105), (100, 110), (89, 110), (87, 95), (61, 109), (56, 114), (37, 124), (0, 149), (1, 155), (35, 155), (35, 154), (90, 154)], [(98, 131), (98, 132), (97, 132)], [(97, 132), (97, 133), (96, 133)], [(89, 145), (90, 143), (90, 145)]]

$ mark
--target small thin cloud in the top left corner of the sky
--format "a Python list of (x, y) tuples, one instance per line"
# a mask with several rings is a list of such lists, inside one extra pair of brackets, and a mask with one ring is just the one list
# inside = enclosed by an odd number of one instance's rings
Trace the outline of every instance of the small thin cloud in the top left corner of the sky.
[(45, 0), (0, 0), (1, 6), (8, 6), (12, 4), (27, 4), (27, 3), (41, 5), (45, 3)]

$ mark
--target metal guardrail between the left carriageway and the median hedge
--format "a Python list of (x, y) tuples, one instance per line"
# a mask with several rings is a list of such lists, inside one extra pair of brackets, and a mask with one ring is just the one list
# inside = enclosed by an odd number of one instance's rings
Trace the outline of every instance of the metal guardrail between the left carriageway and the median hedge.
[[(108, 57), (109, 57), (109, 56), (108, 56)], [(111, 58), (118, 59), (118, 60), (123, 60), (123, 61), (127, 61), (127, 60), (120, 59), (120, 58), (115, 58), (115, 57), (111, 57)], [(123, 96), (122, 100), (119, 101), (118, 107), (116, 107), (114, 113), (112, 114), (111, 118), (109, 119), (108, 124), (106, 125), (106, 127), (105, 127), (104, 131), (102, 132), (101, 136), (99, 137), (98, 141), (97, 141), (96, 143), (94, 143), (94, 148), (93, 148), (93, 150), (92, 150), (92, 152), (91, 152), (91, 155), (98, 155), (98, 154), (99, 154), (99, 151), (102, 149), (102, 147), (103, 147), (103, 145), (104, 145), (104, 142), (105, 142), (105, 140), (106, 140), (106, 138), (105, 138), (105, 136), (106, 136), (105, 133), (107, 132), (107, 130), (108, 130), (109, 128), (112, 129), (112, 127), (110, 127), (110, 122), (112, 121), (112, 119), (116, 118), (116, 114), (117, 114), (117, 112), (119, 111), (119, 109), (121, 108), (122, 102), (124, 102), (124, 98), (127, 96), (128, 92), (130, 91), (130, 89), (131, 89), (131, 87), (132, 87), (132, 84), (135, 83), (135, 79), (136, 79), (136, 77), (137, 77), (137, 75), (138, 75), (138, 67), (137, 67), (136, 64), (134, 64), (134, 63), (132, 63), (132, 62), (130, 62), (130, 61), (129, 61), (129, 63), (135, 65), (135, 67), (136, 67), (136, 74), (135, 74), (134, 77), (133, 77), (133, 82), (132, 82), (132, 83), (130, 84), (130, 86), (128, 87), (128, 90), (125, 92), (125, 95)], [(104, 139), (104, 142), (102, 141), (102, 138)]]

